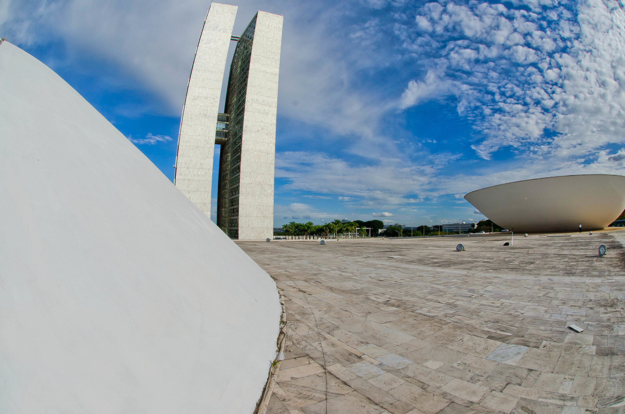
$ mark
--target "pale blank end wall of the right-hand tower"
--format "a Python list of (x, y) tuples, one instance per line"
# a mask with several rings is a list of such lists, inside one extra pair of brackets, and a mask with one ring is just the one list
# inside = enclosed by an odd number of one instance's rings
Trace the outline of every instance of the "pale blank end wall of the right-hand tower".
[(252, 43), (241, 146), (239, 240), (273, 237), (277, 83), (282, 16), (259, 11)]

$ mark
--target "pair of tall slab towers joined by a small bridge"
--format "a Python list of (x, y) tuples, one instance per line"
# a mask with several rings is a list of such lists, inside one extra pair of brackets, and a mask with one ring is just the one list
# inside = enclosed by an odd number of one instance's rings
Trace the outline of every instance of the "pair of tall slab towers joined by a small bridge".
[[(178, 136), (174, 184), (200, 210), (217, 210), (217, 226), (232, 239), (272, 238), (277, 81), (282, 16), (259, 11), (232, 36), (237, 7), (211, 3), (197, 44)], [(224, 112), (222, 80), (231, 41)], [(217, 205), (211, 205), (212, 165), (219, 151)]]

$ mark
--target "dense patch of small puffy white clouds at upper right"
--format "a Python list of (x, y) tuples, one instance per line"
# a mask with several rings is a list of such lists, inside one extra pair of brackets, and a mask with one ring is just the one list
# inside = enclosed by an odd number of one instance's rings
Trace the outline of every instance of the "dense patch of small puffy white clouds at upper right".
[[(508, 7), (507, 7), (508, 6)], [(407, 108), (453, 95), (484, 159), (597, 153), (625, 134), (625, 11), (616, 1), (426, 3), (397, 29), (426, 75)]]

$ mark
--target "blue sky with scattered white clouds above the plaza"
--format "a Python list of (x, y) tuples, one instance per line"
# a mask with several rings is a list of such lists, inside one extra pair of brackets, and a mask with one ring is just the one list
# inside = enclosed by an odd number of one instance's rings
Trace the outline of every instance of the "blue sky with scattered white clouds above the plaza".
[[(477, 221), (462, 198), (474, 189), (623, 174), (620, 2), (232, 4), (235, 35), (257, 10), (284, 15), (275, 226)], [(173, 179), (208, 6), (0, 0), (0, 36), (54, 69)]]

